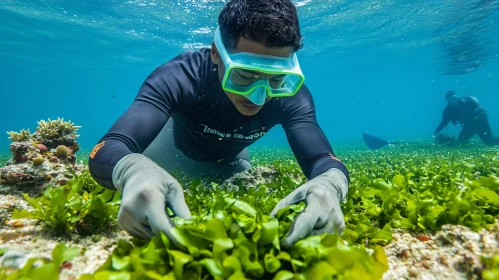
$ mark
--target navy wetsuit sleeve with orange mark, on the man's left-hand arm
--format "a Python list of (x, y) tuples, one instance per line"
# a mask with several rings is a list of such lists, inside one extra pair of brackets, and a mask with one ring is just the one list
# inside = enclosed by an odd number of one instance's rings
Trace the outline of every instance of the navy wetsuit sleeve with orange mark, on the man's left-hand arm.
[(112, 174), (116, 163), (128, 154), (142, 153), (181, 105), (186, 92), (197, 87), (195, 73), (199, 67), (192, 61), (195, 59), (183, 54), (147, 77), (131, 106), (90, 154), (90, 174), (99, 184), (115, 189)]

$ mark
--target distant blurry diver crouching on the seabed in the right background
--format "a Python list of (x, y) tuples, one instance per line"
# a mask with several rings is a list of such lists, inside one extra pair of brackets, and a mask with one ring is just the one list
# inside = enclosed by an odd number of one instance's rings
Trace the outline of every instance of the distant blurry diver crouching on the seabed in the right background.
[(467, 142), (473, 135), (478, 134), (486, 145), (497, 145), (499, 139), (492, 136), (488, 115), (485, 109), (478, 104), (474, 96), (458, 96), (454, 91), (448, 91), (445, 95), (447, 107), (440, 125), (433, 133), (433, 137), (440, 133), (448, 124), (461, 124), (463, 129), (459, 133), (459, 142)]

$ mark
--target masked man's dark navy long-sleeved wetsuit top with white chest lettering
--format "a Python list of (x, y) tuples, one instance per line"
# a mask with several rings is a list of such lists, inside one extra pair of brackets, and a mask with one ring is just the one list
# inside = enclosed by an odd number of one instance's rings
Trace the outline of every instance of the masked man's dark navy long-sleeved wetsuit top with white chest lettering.
[[(292, 97), (272, 98), (254, 116), (237, 111), (225, 95), (210, 49), (181, 54), (155, 69), (128, 110), (90, 155), (89, 168), (101, 185), (114, 189), (112, 171), (130, 153), (142, 153), (171, 116), (175, 146), (196, 161), (234, 158), (282, 125), (289, 145), (309, 179), (330, 168), (348, 171), (319, 127), (315, 106), (303, 85)], [(103, 143), (103, 144), (102, 144)]]

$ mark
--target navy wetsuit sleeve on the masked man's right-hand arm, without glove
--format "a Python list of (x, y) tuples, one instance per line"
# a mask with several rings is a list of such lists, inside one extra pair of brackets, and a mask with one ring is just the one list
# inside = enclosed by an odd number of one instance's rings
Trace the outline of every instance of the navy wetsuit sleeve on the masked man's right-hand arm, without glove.
[(308, 88), (303, 85), (285, 102), (281, 124), (291, 150), (307, 179), (312, 179), (331, 168), (338, 168), (350, 182), (348, 169), (336, 157), (329, 141), (317, 123), (315, 104)]

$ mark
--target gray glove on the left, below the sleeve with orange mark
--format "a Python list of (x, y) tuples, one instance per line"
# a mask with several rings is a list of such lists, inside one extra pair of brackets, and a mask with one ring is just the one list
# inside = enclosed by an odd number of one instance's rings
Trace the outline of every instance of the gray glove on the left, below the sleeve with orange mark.
[(149, 239), (163, 232), (170, 234), (173, 221), (166, 214), (169, 206), (176, 216), (190, 219), (184, 191), (168, 172), (142, 154), (123, 157), (114, 167), (113, 184), (123, 193), (118, 225), (135, 237)]

